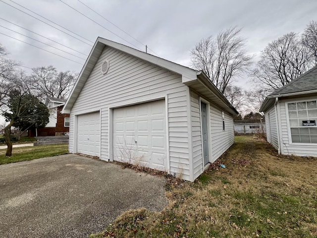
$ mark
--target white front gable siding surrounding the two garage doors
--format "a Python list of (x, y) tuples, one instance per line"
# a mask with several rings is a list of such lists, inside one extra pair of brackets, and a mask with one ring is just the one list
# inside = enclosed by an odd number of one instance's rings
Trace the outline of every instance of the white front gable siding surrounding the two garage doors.
[[(103, 60), (109, 61), (106, 75), (101, 73)], [(101, 156), (112, 160), (109, 150), (109, 108), (132, 105), (163, 98), (167, 95), (167, 123), (170, 173), (190, 180), (188, 149), (187, 86), (181, 76), (137, 59), (110, 47), (105, 47), (81, 90), (70, 114), (69, 150), (74, 152), (75, 115), (101, 112)]]

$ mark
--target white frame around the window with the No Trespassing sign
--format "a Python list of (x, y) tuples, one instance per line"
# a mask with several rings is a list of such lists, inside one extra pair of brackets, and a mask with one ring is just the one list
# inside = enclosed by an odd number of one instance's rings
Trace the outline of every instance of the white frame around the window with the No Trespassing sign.
[[(288, 110), (288, 104), (290, 103), (301, 103), (301, 102), (309, 102), (309, 101), (316, 101), (317, 103), (317, 98), (316, 97), (307, 97), (307, 98), (302, 98), (302, 99), (291, 99), (291, 100), (285, 100), (285, 114), (286, 114), (286, 124), (287, 124), (287, 133), (288, 133), (288, 144), (289, 145), (296, 145), (296, 146), (317, 146), (317, 143), (307, 143), (307, 142), (293, 142), (292, 140), (292, 134), (291, 134), (291, 125), (289, 121), (289, 110)], [(307, 109), (306, 109), (307, 110)], [(298, 110), (297, 110), (298, 111)], [(317, 122), (317, 120), (316, 120)], [(317, 126), (298, 126), (298, 127), (292, 127), (292, 128), (317, 128)]]

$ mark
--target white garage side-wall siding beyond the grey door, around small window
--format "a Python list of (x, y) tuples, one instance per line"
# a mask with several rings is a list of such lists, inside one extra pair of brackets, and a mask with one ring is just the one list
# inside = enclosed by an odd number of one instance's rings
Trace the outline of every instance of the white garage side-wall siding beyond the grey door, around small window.
[(218, 159), (234, 143), (233, 117), (224, 112), (225, 131), (222, 130), (221, 109), (210, 106), (212, 161)]

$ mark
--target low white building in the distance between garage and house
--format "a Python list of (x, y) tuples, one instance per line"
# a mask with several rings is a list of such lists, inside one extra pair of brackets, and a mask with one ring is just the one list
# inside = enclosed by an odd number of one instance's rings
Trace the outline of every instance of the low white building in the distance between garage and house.
[(237, 134), (256, 134), (266, 133), (265, 120), (260, 119), (247, 119), (235, 120), (234, 132)]

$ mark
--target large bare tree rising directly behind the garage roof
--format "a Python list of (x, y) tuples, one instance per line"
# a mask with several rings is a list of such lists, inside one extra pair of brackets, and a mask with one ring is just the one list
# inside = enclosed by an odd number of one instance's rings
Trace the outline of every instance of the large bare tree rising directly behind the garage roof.
[(247, 54), (246, 39), (240, 36), (241, 28), (221, 31), (214, 39), (202, 39), (191, 50), (192, 66), (203, 70), (221, 93), (236, 76), (248, 72), (252, 57)]

